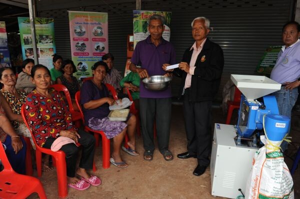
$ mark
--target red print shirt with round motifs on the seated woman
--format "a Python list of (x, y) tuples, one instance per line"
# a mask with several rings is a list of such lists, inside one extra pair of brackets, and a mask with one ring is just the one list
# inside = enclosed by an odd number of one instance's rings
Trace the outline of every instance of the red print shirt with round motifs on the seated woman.
[(25, 115), (38, 146), (48, 137), (57, 138), (62, 130), (76, 131), (66, 104), (60, 94), (49, 89), (51, 97), (32, 91), (25, 102)]

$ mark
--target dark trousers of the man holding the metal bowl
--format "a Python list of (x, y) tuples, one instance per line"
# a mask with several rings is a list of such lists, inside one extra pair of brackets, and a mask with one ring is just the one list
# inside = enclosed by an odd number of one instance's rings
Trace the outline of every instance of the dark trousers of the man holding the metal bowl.
[(171, 98), (140, 98), (139, 114), (144, 150), (154, 151), (153, 123), (156, 122), (158, 149), (168, 150), (171, 121)]

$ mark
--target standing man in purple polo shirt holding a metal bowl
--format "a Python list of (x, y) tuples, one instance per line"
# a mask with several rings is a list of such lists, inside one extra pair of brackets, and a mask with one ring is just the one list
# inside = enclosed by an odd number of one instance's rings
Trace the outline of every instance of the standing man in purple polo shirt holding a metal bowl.
[[(162, 38), (164, 30), (163, 17), (152, 15), (148, 19), (150, 35), (139, 41), (134, 49), (130, 70), (137, 72), (141, 79), (152, 75), (168, 75), (163, 69), (163, 64), (175, 64), (176, 55), (173, 46)], [(141, 68), (136, 67), (140, 65)], [(139, 113), (144, 146), (143, 158), (151, 161), (154, 151), (153, 122), (156, 117), (157, 141), (160, 153), (166, 161), (173, 159), (168, 150), (170, 119), (171, 119), (171, 89), (151, 91), (145, 89), (143, 83), (139, 87)]]

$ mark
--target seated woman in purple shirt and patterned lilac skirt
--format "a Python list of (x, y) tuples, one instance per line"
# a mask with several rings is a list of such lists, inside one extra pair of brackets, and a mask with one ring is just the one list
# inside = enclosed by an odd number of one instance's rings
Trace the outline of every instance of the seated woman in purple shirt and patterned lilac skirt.
[(139, 155), (135, 151), (135, 116), (129, 115), (126, 122), (108, 120), (108, 107), (114, 103), (114, 100), (108, 96), (108, 89), (102, 83), (108, 67), (105, 62), (98, 61), (91, 69), (93, 78), (85, 81), (80, 91), (84, 123), (91, 129), (103, 131), (107, 139), (113, 138), (113, 152), (110, 162), (116, 167), (125, 168), (128, 165), (121, 159), (120, 147), (126, 131), (129, 137), (127, 143), (129, 149), (123, 148), (123, 150), (132, 156)]

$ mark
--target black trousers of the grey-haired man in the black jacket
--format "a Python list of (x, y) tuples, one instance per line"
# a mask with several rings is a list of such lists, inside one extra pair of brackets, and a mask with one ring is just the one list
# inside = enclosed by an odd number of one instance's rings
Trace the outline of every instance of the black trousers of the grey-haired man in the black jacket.
[[(188, 89), (187, 89), (188, 90)], [(211, 101), (190, 102), (184, 94), (183, 114), (187, 151), (196, 154), (199, 165), (209, 165)]]

